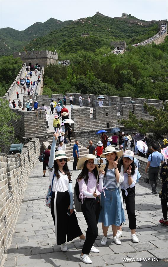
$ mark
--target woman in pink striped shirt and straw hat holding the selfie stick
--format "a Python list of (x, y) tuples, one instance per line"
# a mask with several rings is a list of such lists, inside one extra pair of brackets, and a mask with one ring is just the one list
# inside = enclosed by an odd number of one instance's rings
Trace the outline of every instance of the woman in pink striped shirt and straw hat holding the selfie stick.
[(83, 245), (80, 260), (87, 264), (92, 263), (88, 257), (89, 253), (99, 252), (93, 244), (98, 236), (97, 223), (100, 214), (100, 200), (98, 196), (103, 190), (101, 176), (104, 175), (104, 171), (100, 171), (99, 173), (100, 183), (95, 193), (98, 171), (96, 169), (96, 165), (94, 164), (94, 159), (96, 159), (95, 155), (88, 154), (84, 158), (81, 158), (77, 163), (77, 169), (82, 169), (82, 172), (77, 177), (80, 192), (79, 198), (82, 200), (81, 209), (88, 225), (86, 240)]

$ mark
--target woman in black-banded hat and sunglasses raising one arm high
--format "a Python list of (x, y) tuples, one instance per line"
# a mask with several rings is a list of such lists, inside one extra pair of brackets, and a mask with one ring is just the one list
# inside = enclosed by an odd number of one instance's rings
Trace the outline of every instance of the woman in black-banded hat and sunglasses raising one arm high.
[(49, 157), (49, 177), (52, 186), (51, 215), (55, 225), (56, 244), (62, 251), (67, 251), (67, 241), (77, 236), (85, 239), (77, 223), (77, 217), (73, 209), (73, 192), (71, 173), (67, 166), (70, 160), (63, 150), (55, 152), (59, 130), (53, 135), (53, 142)]

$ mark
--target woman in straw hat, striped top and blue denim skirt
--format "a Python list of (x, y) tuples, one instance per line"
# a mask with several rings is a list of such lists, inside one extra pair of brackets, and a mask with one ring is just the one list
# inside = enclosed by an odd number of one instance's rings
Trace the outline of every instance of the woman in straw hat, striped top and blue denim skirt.
[(103, 238), (101, 245), (106, 245), (107, 231), (109, 225), (112, 225), (113, 241), (115, 244), (120, 245), (121, 241), (117, 239), (116, 234), (118, 226), (125, 222), (124, 206), (121, 192), (121, 182), (124, 177), (119, 173), (117, 162), (119, 157), (123, 155), (123, 151), (115, 150), (114, 147), (106, 147), (104, 154), (101, 158), (107, 159), (107, 164), (104, 169), (105, 175), (103, 177), (103, 187), (105, 187), (105, 195), (101, 193), (101, 212), (98, 222), (102, 223)]

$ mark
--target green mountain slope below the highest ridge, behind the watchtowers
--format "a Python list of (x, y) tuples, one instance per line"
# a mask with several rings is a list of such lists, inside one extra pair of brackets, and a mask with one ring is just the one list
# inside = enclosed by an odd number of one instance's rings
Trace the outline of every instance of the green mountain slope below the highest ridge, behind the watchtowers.
[[(64, 59), (68, 53), (77, 51), (92, 51), (103, 48), (104, 52), (110, 51), (110, 42), (125, 40), (126, 44), (132, 44), (151, 37), (158, 32), (158, 24), (153, 23), (149, 26), (142, 26), (138, 23), (130, 23), (127, 20), (116, 18), (104, 18), (98, 15), (93, 17), (75, 20), (69, 26), (52, 31), (46, 36), (31, 41), (26, 46), (27, 50), (49, 49), (59, 50), (60, 59)], [(82, 33), (89, 33), (90, 36), (80, 37)]]

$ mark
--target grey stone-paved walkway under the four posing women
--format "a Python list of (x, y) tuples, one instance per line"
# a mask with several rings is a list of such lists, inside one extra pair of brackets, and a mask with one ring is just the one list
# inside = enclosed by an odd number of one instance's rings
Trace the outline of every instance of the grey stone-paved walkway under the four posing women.
[[(69, 163), (72, 171), (72, 162)], [(72, 171), (73, 185), (80, 171)], [(49, 186), (49, 176), (43, 178), (42, 163), (38, 162), (28, 179), (24, 194), (24, 203), (21, 205), (20, 214), (7, 249), (7, 260), (4, 267), (13, 266), (86, 266), (79, 260), (81, 247), (79, 239), (67, 244), (68, 251), (62, 252), (55, 243), (55, 228), (51, 212), (45, 205), (45, 195)], [(135, 244), (130, 239), (128, 217), (125, 210), (126, 222), (123, 225), (121, 245), (112, 241), (112, 231), (109, 228), (108, 242), (101, 246), (101, 223), (98, 223), (99, 235), (95, 246), (100, 249), (97, 254), (91, 253), (93, 263), (90, 266), (167, 266), (167, 228), (159, 224), (163, 217), (159, 196), (152, 196), (150, 185), (141, 181), (136, 185), (135, 209), (137, 219), (137, 236), (139, 243)], [(85, 234), (87, 225), (82, 213), (77, 213), (81, 230)], [(131, 262), (124, 263), (123, 258), (159, 258), (159, 262)]]

